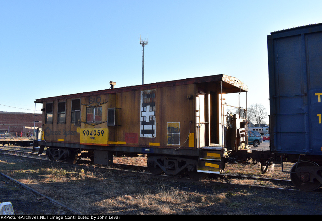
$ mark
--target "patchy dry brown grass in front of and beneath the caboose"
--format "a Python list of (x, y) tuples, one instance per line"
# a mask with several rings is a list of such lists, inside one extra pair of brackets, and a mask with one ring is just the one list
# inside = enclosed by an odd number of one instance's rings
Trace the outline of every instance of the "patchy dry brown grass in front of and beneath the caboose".
[[(314, 198), (314, 201), (310, 195), (220, 186), (199, 187), (146, 176), (80, 169), (59, 163), (3, 158), (0, 160), (3, 173), (84, 214), (296, 214), (307, 211), (314, 213), (314, 209), (322, 208), (319, 198)], [(114, 162), (118, 160), (124, 163), (126, 159), (115, 158)], [(132, 164), (146, 164), (145, 158), (130, 160)], [(263, 176), (257, 165), (242, 167), (232, 164), (227, 165), (226, 170), (256, 170)], [(269, 176), (277, 171), (274, 169)], [(232, 182), (241, 181), (236, 179)], [(28, 195), (21, 194), (21, 197), (23, 201), (28, 200)], [(309, 201), (310, 205), (302, 204), (300, 200)], [(66, 213), (61, 208), (55, 209), (54, 212), (51, 210), (52, 214)], [(41, 210), (39, 214), (42, 214)]]

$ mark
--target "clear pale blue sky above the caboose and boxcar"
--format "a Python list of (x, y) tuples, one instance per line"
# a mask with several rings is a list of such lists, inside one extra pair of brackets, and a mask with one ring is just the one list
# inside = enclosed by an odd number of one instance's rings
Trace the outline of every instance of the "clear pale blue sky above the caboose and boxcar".
[(267, 35), (321, 23), (321, 9), (294, 0), (0, 0), (0, 111), (33, 113), (35, 99), (109, 81), (141, 84), (141, 34), (145, 83), (226, 74), (248, 86), (248, 106), (269, 112)]

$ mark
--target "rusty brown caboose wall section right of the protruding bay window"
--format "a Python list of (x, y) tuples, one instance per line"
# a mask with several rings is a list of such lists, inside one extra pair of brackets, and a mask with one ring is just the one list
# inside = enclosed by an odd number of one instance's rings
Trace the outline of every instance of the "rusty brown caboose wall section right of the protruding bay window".
[[(141, 111), (142, 92), (150, 93), (151, 97), (154, 97), (155, 102), (154, 107), (148, 105), (145, 111)], [(119, 110), (118, 116), (120, 126), (115, 127), (116, 142), (142, 147), (152, 146), (155, 148), (160, 146), (177, 148), (181, 146), (188, 136), (189, 127), (190, 133), (194, 133), (194, 99), (187, 99), (187, 95), (189, 94), (194, 94), (194, 84), (118, 93), (116, 107), (121, 107), (121, 109)], [(151, 114), (151, 116), (147, 114)], [(154, 118), (152, 115), (154, 115)], [(150, 122), (155, 119), (155, 127), (150, 125), (146, 127), (155, 130), (155, 134), (148, 136), (141, 133), (144, 129), (141, 126), (141, 117), (143, 116), (146, 118), (151, 117), (149, 119)], [(144, 121), (144, 126), (148, 124), (147, 121), (147, 119)], [(177, 132), (179, 133), (170, 134), (167, 125), (169, 127), (178, 125), (179, 131)], [(176, 140), (176, 144), (171, 141), (168, 142), (167, 138), (170, 137), (169, 140), (171, 140), (171, 136), (173, 135), (175, 137), (175, 134), (180, 135), (180, 140)], [(194, 148), (194, 142), (191, 143), (191, 138), (190, 146), (189, 142), (186, 142), (182, 148), (189, 147)]]

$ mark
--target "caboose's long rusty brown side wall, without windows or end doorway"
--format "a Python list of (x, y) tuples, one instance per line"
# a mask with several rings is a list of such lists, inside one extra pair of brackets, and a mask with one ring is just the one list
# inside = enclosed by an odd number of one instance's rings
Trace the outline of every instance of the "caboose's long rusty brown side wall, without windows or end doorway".
[[(194, 99), (188, 99), (187, 95), (195, 94), (194, 84), (156, 88), (156, 135), (155, 137), (140, 137), (140, 94), (141, 91), (128, 91), (116, 94), (102, 94), (89, 97), (81, 97), (81, 126), (71, 123), (71, 100), (60, 99), (43, 103), (53, 103), (52, 123), (43, 125), (43, 138), (47, 142), (80, 143), (87, 145), (131, 145), (131, 146), (164, 146), (175, 148), (181, 146), (190, 131), (190, 138), (182, 148), (194, 148)], [(99, 102), (97, 102), (99, 101)], [(66, 102), (65, 123), (58, 123), (58, 102)], [(101, 123), (87, 123), (86, 108), (102, 107)], [(116, 108), (116, 125), (106, 126), (107, 109)], [(43, 122), (46, 119), (46, 111), (43, 113)], [(190, 123), (191, 122), (191, 123)], [(172, 123), (172, 124), (171, 124)], [(167, 142), (169, 133), (167, 125), (180, 125), (178, 143)], [(96, 130), (95, 130), (96, 129)], [(104, 130), (105, 139), (90, 135)], [(89, 131), (89, 132), (87, 132)], [(89, 134), (89, 135), (87, 135)], [(104, 137), (105, 137), (104, 135)], [(90, 140), (90, 139), (95, 140)]]

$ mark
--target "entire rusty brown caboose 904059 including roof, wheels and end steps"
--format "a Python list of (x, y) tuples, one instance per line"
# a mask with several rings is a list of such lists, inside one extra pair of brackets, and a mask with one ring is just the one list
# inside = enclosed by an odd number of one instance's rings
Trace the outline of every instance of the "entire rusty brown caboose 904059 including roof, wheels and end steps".
[(154, 174), (220, 173), (249, 152), (246, 119), (222, 98), (246, 91), (237, 78), (214, 75), (37, 99), (39, 153), (47, 147), (53, 161), (89, 157), (106, 165), (113, 155), (144, 155)]

